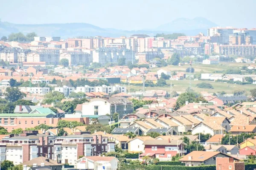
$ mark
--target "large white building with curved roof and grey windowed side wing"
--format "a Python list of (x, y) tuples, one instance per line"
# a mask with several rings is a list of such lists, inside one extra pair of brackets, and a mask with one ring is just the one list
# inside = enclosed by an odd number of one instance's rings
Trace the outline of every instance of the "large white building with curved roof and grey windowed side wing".
[(124, 97), (94, 98), (82, 105), (82, 115), (119, 113), (120, 117), (133, 112), (132, 102)]

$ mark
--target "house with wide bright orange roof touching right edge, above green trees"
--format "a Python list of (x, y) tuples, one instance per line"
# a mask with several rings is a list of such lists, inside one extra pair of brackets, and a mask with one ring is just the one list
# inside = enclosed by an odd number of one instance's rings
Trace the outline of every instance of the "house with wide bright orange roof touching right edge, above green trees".
[(230, 132), (233, 135), (240, 135), (241, 133), (256, 133), (256, 125), (233, 125)]

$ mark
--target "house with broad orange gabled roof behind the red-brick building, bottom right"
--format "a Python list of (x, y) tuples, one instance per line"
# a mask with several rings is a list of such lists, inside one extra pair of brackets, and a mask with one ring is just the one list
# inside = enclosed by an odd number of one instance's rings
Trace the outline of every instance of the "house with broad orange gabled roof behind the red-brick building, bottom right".
[(193, 151), (183, 156), (183, 158), (181, 158), (179, 161), (181, 161), (181, 163), (185, 163), (185, 166), (199, 166), (201, 164), (215, 165), (217, 157), (233, 158), (234, 160), (237, 160), (237, 161), (239, 160), (225, 153), (221, 153), (217, 151), (212, 151), (212, 152)]

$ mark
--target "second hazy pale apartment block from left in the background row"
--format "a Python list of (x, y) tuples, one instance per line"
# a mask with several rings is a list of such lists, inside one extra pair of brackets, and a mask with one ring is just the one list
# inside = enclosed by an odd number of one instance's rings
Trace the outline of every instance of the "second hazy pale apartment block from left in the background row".
[(60, 61), (60, 51), (50, 49), (39, 49), (31, 51), (26, 55), (27, 62), (45, 62), (46, 65), (58, 65)]

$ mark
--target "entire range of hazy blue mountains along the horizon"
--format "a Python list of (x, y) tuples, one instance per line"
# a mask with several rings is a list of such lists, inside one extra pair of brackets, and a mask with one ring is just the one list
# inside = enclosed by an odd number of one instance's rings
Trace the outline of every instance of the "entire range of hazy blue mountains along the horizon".
[(186, 35), (196, 35), (199, 32), (206, 33), (207, 28), (217, 26), (215, 23), (205, 18), (194, 18), (192, 20), (180, 18), (157, 27), (156, 29), (145, 29), (137, 31), (126, 31), (115, 28), (100, 28), (88, 23), (52, 23), (52, 24), (14, 24), (0, 22), (0, 37), (9, 34), (22, 32), (27, 34), (35, 32), (38, 36), (52, 36), (61, 38), (73, 38), (77, 36), (103, 36), (120, 37), (131, 36), (132, 34), (148, 34), (154, 36), (157, 33), (171, 34), (173, 32), (184, 33)]

